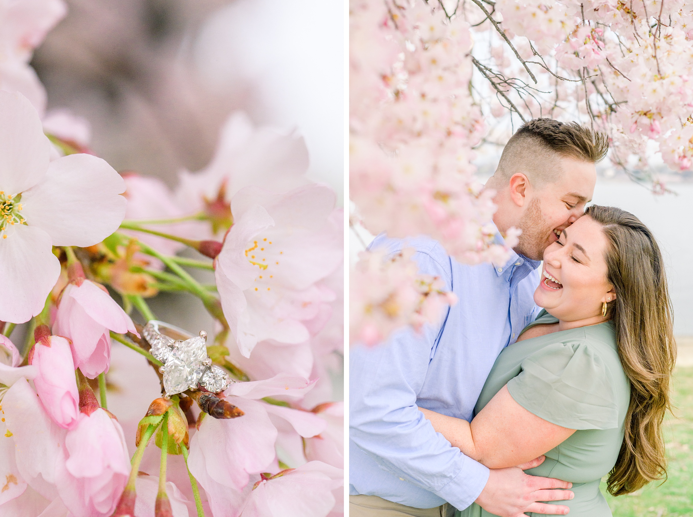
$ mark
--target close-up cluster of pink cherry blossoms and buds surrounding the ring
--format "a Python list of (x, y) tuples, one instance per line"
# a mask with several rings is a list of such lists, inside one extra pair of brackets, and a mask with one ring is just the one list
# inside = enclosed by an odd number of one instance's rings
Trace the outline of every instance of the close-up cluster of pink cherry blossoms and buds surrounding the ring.
[[(85, 154), (85, 125), (43, 116), (27, 62), (64, 5), (8, 6), (0, 515), (343, 514), (331, 382), (342, 369), (343, 211), (306, 179), (304, 140), (234, 114), (208, 167), (182, 172), (175, 192), (121, 176)], [(147, 300), (162, 291), (192, 294), (213, 318), (207, 354), (233, 379), (225, 390), (161, 397), (161, 362), (130, 314), (155, 319)]]

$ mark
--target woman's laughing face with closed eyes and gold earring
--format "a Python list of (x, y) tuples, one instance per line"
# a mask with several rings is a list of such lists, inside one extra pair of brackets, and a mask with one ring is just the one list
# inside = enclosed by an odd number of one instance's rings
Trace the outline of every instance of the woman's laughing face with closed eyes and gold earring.
[[(568, 226), (544, 251), (544, 264), (534, 302), (565, 323), (590, 325), (602, 318), (602, 303), (615, 300), (606, 278), (602, 226), (589, 216)], [(571, 325), (581, 326), (581, 325)]]

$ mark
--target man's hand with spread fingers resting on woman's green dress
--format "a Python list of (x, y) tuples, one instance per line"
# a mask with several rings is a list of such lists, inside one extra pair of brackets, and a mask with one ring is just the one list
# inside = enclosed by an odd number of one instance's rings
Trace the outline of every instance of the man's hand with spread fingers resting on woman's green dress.
[(491, 514), (501, 517), (527, 517), (525, 511), (536, 514), (565, 515), (567, 506), (546, 505), (537, 501), (559, 501), (574, 498), (569, 489), (572, 483), (554, 478), (539, 478), (527, 475), (523, 470), (534, 469), (546, 459), (536, 460), (507, 469), (491, 469), (486, 487), (476, 500), (477, 505)]

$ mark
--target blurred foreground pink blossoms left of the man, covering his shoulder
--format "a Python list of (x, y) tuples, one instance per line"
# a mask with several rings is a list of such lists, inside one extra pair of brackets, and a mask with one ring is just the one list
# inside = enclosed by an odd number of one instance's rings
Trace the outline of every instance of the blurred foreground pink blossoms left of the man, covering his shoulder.
[[(502, 260), (493, 192), (471, 163), (485, 126), (469, 92), (470, 26), (448, 14), (434, 2), (351, 2), (350, 196), (371, 233), (423, 233), (464, 262)], [(416, 275), (410, 255), (362, 254), (351, 282), (352, 342), (433, 322), (450, 302)]]

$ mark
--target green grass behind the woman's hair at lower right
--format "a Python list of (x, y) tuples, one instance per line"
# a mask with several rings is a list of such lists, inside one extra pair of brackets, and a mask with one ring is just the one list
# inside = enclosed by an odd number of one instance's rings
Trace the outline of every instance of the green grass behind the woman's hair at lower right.
[(669, 479), (628, 496), (602, 493), (614, 517), (693, 517), (693, 368), (674, 372), (674, 416), (665, 419)]

